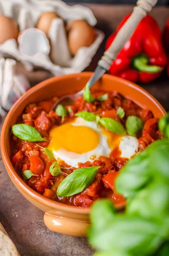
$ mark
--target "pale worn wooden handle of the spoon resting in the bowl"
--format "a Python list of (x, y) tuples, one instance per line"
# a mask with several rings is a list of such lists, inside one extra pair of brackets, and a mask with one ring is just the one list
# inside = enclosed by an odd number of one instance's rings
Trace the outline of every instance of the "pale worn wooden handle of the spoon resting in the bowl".
[(104, 52), (104, 55), (98, 62), (98, 65), (109, 70), (112, 61), (115, 60), (124, 44), (131, 38), (135, 32), (138, 23), (146, 16), (147, 12), (152, 10), (152, 7), (156, 5), (158, 0), (138, 0), (137, 6), (134, 7), (132, 15), (121, 27), (114, 41), (110, 45), (109, 49)]

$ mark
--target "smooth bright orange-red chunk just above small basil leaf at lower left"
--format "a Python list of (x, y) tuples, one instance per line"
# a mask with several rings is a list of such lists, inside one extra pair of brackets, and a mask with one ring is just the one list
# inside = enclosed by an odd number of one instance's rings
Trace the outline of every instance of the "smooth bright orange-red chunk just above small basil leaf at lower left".
[(32, 156), (30, 157), (31, 167), (30, 170), (35, 175), (40, 175), (44, 170), (44, 164), (40, 157)]

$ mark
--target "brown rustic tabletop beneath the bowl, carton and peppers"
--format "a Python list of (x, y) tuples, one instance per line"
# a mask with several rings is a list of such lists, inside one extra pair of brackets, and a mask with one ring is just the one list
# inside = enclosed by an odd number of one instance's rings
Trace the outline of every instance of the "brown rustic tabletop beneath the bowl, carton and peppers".
[[(106, 36), (115, 30), (121, 18), (131, 12), (132, 6), (87, 5), (94, 12), (98, 20), (97, 27)], [(157, 7), (152, 15), (158, 20), (162, 28), (169, 9)], [(92, 64), (86, 69), (93, 71), (97, 61), (104, 51), (104, 42), (98, 50)], [(36, 78), (36, 77), (35, 77)], [(37, 82), (34, 79), (32, 84)], [(140, 84), (142, 85), (142, 84)], [(149, 91), (169, 111), (169, 78), (163, 74), (157, 81), (144, 84)], [(0, 122), (0, 130), (3, 120)], [(30, 204), (17, 191), (7, 175), (0, 157), (0, 221), (7, 233), (14, 241), (21, 256), (91, 256), (93, 250), (86, 238), (77, 238), (53, 233), (43, 223), (43, 212)]]

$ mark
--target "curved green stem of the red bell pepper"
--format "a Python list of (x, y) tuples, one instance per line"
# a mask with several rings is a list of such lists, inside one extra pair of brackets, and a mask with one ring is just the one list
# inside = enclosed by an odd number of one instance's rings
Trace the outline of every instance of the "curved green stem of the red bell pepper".
[(163, 67), (149, 65), (149, 57), (143, 53), (136, 55), (132, 59), (132, 65), (137, 71), (146, 73), (158, 73), (163, 70)]

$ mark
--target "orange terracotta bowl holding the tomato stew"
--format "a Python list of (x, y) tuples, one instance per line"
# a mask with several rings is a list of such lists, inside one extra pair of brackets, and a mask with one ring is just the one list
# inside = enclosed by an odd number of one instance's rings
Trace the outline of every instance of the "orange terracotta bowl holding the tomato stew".
[[(85, 236), (86, 229), (89, 227), (90, 208), (69, 206), (52, 201), (27, 186), (26, 183), (24, 183), (17, 175), (11, 164), (10, 131), (11, 126), (16, 122), (17, 116), (22, 113), (26, 105), (52, 96), (60, 97), (65, 94), (72, 93), (72, 91), (80, 91), (91, 75), (92, 73), (87, 72), (54, 77), (31, 88), (22, 97), (20, 97), (6, 116), (0, 142), (6, 170), (20, 193), (28, 201), (45, 212), (44, 222), (50, 230), (73, 236)], [(146, 92), (146, 90), (124, 79), (106, 74), (95, 84), (95, 88), (109, 91), (117, 90), (123, 96), (132, 99), (141, 108), (150, 109), (155, 117), (160, 118), (166, 113), (160, 103)], [(124, 206), (124, 204), (119, 204), (117, 205), (117, 208), (120, 209)]]

